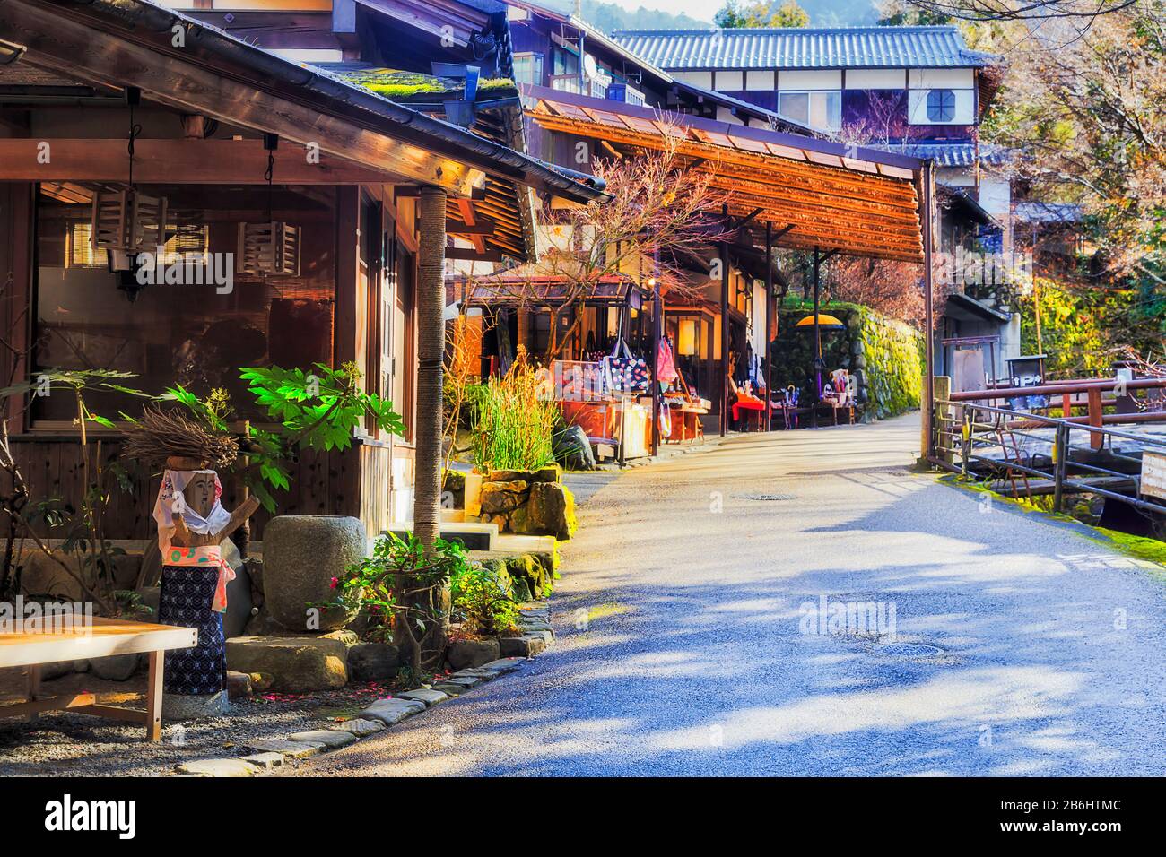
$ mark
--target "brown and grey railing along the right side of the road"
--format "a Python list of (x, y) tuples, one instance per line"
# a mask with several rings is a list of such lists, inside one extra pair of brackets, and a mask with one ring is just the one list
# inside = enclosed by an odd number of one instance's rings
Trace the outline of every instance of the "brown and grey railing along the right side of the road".
[[(1103, 413), (1101, 393), (1116, 385), (1114, 379), (1100, 379), (970, 391), (946, 398), (940, 398), (941, 391), (936, 389), (935, 444), (928, 459), (964, 477), (974, 470), (997, 476), (1011, 485), (1013, 497), (1052, 494), (1056, 512), (1062, 511), (1066, 493), (1089, 492), (1166, 514), (1166, 500), (1146, 499), (1142, 494), (1140, 479), (1142, 452), (1152, 450), (1166, 455), (1166, 437), (1114, 428), (1123, 423), (1166, 422), (1166, 410)], [(1166, 387), (1166, 379), (1135, 379), (1125, 381), (1122, 391), (1163, 387)], [(1087, 395), (1084, 416), (1053, 417), (983, 403), (1017, 396), (1080, 393)], [(1061, 405), (1062, 413), (1072, 413), (1067, 402)], [(1142, 449), (1131, 455), (1115, 447), (1114, 442), (1119, 440), (1136, 442)]]

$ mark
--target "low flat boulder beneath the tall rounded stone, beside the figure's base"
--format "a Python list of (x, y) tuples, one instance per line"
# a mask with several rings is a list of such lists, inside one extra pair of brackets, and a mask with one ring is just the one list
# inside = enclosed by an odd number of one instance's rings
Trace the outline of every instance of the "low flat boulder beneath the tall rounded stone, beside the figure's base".
[(226, 641), (226, 666), (271, 676), (292, 694), (335, 690), (347, 683), (349, 647), (325, 637), (236, 637)]

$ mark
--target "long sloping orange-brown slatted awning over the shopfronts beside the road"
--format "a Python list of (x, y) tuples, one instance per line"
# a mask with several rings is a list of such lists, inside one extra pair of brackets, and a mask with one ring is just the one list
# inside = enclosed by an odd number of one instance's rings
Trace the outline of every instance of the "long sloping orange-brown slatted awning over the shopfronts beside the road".
[(787, 247), (922, 262), (916, 180), (922, 163), (877, 149), (729, 125), (648, 107), (521, 85), (527, 115), (541, 127), (627, 150), (660, 149), (669, 128), (683, 134), (690, 169), (714, 174), (732, 195), (730, 213), (789, 226)]

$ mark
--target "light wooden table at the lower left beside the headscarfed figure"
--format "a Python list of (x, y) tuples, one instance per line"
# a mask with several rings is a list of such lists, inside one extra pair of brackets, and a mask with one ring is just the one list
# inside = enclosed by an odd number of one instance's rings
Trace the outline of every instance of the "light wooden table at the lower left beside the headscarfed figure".
[[(84, 621), (78, 618), (78, 621)], [(31, 625), (31, 623), (30, 623)], [(0, 705), (0, 717), (27, 716), (36, 719), (41, 711), (79, 711), (141, 723), (149, 740), (162, 737), (163, 655), (170, 648), (198, 645), (198, 631), (173, 625), (150, 625), (125, 619), (94, 617), (92, 625), (71, 630), (40, 632), (35, 625), (22, 633), (0, 633), (0, 667), (28, 667), (27, 702)], [(93, 694), (42, 697), (41, 667), (55, 661), (105, 658), (118, 654), (149, 652), (149, 684), (146, 710), (99, 705)]]

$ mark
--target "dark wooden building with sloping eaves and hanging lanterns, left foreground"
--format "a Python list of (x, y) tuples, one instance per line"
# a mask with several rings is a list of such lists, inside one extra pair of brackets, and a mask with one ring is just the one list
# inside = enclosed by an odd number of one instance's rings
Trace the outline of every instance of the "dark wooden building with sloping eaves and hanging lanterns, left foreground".
[[(312, 13), (300, 35), (317, 48), (335, 38), (342, 59), (361, 44), (379, 50), (372, 27), (351, 29), (379, 6), (333, 3), (328, 27)], [(440, 44), (454, 12), (442, 0), (427, 6)], [(261, 14), (234, 20), (262, 29)], [(441, 58), (464, 62), (496, 37), (497, 21), (459, 19), (461, 54)], [(3, 384), (48, 367), (114, 368), (152, 393), (224, 387), (240, 419), (259, 420), (239, 367), (356, 363), (366, 389), (403, 414), (406, 435), (363, 431), (345, 452), (302, 455), (279, 511), (358, 515), (371, 533), (403, 517), (413, 295), (423, 266), (444, 264), (444, 250), (426, 257), (423, 239), (462, 234), (471, 253), (525, 259), (521, 230), (492, 227), (504, 216), (521, 222), (520, 197), (585, 203), (600, 189), (150, 2), (9, 0), (0, 40)], [(444, 218), (422, 218), (434, 199)], [(143, 283), (136, 253), (156, 244), (163, 261), (194, 258), (224, 278)], [(138, 407), (115, 394), (90, 403), (111, 416)], [(37, 497), (76, 504), (84, 489), (70, 403), (9, 398), (3, 416)], [(113, 461), (118, 431), (90, 434)], [(132, 478), (133, 491), (111, 504), (107, 538), (149, 535), (156, 480)]]

